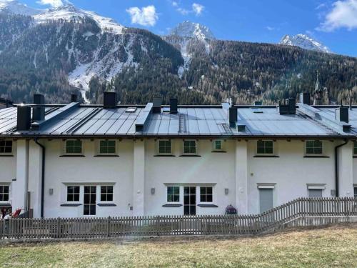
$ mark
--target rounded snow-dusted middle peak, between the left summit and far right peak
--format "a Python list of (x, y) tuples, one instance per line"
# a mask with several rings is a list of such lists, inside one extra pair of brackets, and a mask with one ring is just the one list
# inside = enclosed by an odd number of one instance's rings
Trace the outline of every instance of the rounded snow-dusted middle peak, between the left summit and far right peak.
[(183, 21), (170, 31), (169, 35), (177, 35), (181, 37), (191, 37), (199, 40), (215, 39), (212, 31), (207, 26), (194, 23), (191, 21)]

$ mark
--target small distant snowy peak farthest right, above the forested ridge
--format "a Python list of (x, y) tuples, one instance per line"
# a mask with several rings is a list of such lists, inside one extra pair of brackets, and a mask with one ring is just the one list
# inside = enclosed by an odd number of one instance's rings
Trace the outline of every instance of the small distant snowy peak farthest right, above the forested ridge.
[(306, 34), (296, 34), (295, 36), (290, 36), (286, 34), (281, 39), (280, 44), (287, 45), (287, 46), (299, 46), (302, 49), (331, 53), (331, 50), (328, 49), (327, 46), (312, 39), (310, 36), (307, 36)]

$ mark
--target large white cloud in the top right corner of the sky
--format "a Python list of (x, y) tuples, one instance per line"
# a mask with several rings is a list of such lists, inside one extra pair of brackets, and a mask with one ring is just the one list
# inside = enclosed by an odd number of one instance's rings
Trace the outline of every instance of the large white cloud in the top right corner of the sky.
[(331, 11), (325, 16), (325, 21), (316, 28), (318, 31), (357, 28), (357, 0), (339, 0), (335, 1), (332, 6)]

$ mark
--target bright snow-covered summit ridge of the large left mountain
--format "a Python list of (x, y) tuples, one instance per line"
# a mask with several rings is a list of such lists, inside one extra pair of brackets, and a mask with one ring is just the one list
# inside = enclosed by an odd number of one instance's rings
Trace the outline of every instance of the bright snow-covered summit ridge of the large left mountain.
[(49, 9), (40, 14), (36, 14), (34, 19), (37, 23), (46, 23), (53, 20), (76, 21), (79, 19), (90, 18), (96, 21), (102, 31), (108, 31), (114, 34), (121, 34), (125, 29), (121, 24), (116, 23), (114, 19), (99, 16), (94, 11), (78, 9), (73, 4), (65, 4), (54, 9)]

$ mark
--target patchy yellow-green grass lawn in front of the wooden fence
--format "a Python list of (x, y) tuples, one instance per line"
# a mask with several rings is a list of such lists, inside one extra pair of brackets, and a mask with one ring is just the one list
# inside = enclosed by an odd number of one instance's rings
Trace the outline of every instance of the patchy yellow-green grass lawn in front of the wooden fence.
[(357, 267), (357, 225), (234, 239), (1, 245), (0, 267)]

